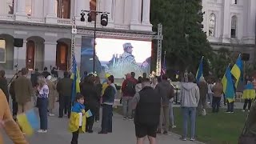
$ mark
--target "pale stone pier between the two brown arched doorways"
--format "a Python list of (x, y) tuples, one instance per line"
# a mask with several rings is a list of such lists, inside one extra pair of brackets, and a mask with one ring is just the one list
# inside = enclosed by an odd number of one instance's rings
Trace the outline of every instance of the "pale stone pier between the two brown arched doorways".
[(56, 65), (56, 46), (57, 42), (45, 42), (44, 49), (44, 67), (46, 66), (50, 70), (50, 66)]

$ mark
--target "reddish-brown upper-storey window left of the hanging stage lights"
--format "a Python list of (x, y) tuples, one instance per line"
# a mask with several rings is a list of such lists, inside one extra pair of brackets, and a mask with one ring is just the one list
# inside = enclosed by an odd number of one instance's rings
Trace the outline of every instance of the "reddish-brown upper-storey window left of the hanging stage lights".
[(70, 0), (56, 0), (57, 1), (57, 17), (70, 18)]

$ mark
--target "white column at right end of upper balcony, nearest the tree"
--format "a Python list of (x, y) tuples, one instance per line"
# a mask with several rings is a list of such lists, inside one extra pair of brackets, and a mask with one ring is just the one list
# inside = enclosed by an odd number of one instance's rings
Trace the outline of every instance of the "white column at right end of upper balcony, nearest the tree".
[(150, 25), (150, 0), (143, 0), (142, 25)]

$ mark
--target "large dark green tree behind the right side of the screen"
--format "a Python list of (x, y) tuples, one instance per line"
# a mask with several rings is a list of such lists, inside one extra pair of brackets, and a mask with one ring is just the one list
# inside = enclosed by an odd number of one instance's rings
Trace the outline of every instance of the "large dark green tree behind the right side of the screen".
[[(174, 70), (189, 70), (193, 73), (205, 56), (204, 70), (209, 70), (208, 59), (213, 51), (202, 31), (201, 0), (151, 0), (151, 23), (157, 31), (162, 23), (166, 50), (166, 63)], [(207, 70), (208, 69), (208, 70)], [(206, 72), (207, 74), (207, 72)]]

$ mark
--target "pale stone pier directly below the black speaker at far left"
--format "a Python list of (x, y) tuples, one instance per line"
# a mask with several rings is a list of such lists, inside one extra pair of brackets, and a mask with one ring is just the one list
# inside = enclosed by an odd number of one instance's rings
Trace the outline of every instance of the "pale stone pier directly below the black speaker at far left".
[(26, 40), (24, 39), (22, 47), (14, 47), (14, 66), (16, 65), (18, 65), (18, 70), (21, 70), (23, 67), (26, 67)]

